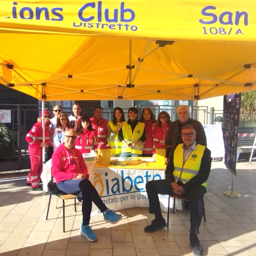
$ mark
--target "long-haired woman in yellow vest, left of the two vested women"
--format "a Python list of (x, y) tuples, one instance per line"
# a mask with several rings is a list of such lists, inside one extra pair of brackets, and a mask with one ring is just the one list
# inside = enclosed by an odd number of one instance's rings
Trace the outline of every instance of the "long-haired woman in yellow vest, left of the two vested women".
[(113, 120), (108, 122), (108, 146), (111, 146), (111, 157), (119, 157), (121, 154), (121, 142), (118, 139), (119, 130), (125, 121), (122, 108), (114, 108)]

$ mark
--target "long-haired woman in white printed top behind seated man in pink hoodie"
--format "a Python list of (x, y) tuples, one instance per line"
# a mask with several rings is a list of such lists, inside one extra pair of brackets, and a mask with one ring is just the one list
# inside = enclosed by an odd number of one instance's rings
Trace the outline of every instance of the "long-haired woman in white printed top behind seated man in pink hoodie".
[(66, 113), (58, 115), (56, 120), (56, 128), (53, 134), (53, 151), (63, 143), (64, 131), (70, 128), (70, 120)]

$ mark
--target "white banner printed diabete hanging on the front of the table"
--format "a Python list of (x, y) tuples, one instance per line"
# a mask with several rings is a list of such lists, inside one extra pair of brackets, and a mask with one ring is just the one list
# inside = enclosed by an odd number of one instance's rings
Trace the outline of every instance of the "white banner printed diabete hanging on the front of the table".
[[(149, 180), (165, 178), (164, 170), (94, 168), (90, 182), (97, 189), (102, 201), (109, 209), (120, 210), (131, 207), (148, 207), (145, 185)], [(168, 195), (159, 195), (161, 209), (167, 212)], [(173, 199), (170, 200), (170, 208)], [(175, 201), (175, 209), (181, 210), (181, 201)], [(99, 214), (93, 204), (91, 215)]]

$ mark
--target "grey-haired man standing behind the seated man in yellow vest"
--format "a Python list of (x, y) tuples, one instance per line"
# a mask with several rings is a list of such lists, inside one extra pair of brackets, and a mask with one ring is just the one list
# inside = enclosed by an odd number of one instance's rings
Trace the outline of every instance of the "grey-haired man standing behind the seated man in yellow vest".
[(169, 158), (176, 148), (176, 146), (180, 143), (183, 143), (182, 138), (180, 136), (181, 129), (185, 124), (189, 124), (195, 127), (196, 143), (201, 144), (203, 146), (207, 146), (206, 136), (204, 132), (203, 125), (201, 122), (197, 120), (191, 119), (189, 117), (189, 106), (180, 105), (177, 107), (177, 115), (179, 120), (172, 122), (169, 126), (168, 133), (166, 135), (165, 145), (171, 145), (171, 148), (167, 148), (166, 157)]

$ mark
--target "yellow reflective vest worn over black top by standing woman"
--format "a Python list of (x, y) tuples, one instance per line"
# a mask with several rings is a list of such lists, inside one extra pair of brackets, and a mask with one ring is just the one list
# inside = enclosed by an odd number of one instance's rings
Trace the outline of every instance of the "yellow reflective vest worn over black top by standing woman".
[[(133, 142), (136, 143), (140, 140), (140, 137), (143, 134), (145, 124), (142, 122), (138, 122), (136, 127), (134, 128), (134, 132), (131, 131), (131, 125), (128, 125), (127, 122), (123, 123), (122, 131), (123, 137), (127, 144)], [(121, 152), (131, 152), (131, 154), (142, 154), (143, 145), (137, 145), (135, 147), (128, 147), (121, 143)]]

